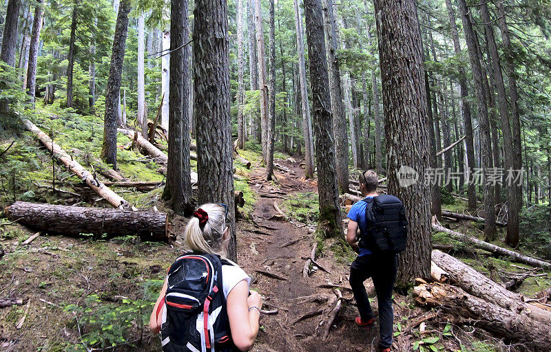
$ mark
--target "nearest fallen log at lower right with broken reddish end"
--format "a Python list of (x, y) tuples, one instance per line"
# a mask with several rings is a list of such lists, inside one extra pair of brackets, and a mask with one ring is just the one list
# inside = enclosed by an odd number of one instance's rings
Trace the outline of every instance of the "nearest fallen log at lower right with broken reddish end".
[(464, 322), (506, 338), (508, 342), (526, 344), (534, 351), (551, 351), (550, 325), (472, 296), (459, 287), (424, 283), (414, 287), (413, 295), (418, 305), (441, 307), (454, 316), (466, 318)]

